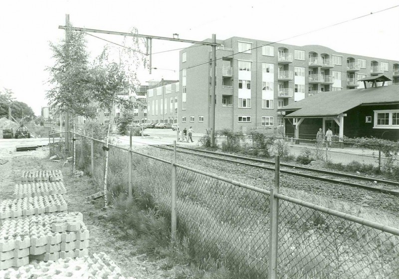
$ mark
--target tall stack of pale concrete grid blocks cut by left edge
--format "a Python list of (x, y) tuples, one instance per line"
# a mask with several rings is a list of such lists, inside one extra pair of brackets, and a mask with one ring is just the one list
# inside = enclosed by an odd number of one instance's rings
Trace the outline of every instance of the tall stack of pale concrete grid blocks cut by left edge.
[(0, 270), (29, 263), (29, 220), (8, 220), (0, 229)]

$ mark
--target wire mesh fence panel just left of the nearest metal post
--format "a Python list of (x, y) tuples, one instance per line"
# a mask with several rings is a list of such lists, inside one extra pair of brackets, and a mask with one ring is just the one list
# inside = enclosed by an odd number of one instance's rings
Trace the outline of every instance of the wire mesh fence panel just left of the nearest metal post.
[(176, 188), (178, 230), (191, 236), (194, 257), (211, 256), (241, 278), (267, 273), (268, 196), (182, 168)]

